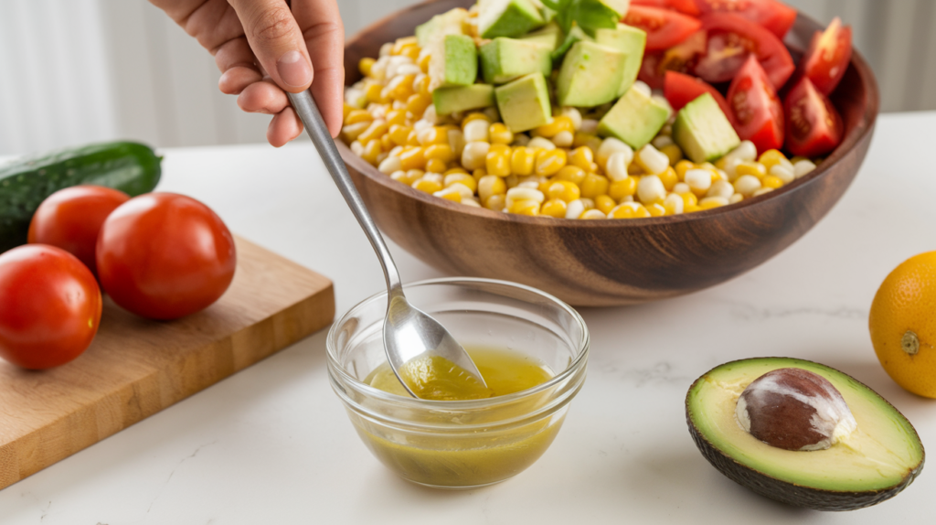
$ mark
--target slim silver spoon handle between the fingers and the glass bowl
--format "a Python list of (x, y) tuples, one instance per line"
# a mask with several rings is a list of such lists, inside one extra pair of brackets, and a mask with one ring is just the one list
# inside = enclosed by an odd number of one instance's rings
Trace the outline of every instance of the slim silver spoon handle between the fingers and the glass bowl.
[(371, 241), (373, 251), (377, 253), (377, 258), (380, 259), (380, 266), (384, 268), (388, 299), (395, 295), (402, 295), (400, 272), (393, 263), (393, 257), (390, 256), (384, 238), (380, 235), (377, 226), (373, 224), (371, 213), (364, 207), (364, 201), (361, 200), (360, 194), (358, 194), (358, 188), (354, 186), (354, 182), (351, 182), (351, 176), (348, 175), (347, 168), (344, 167), (344, 160), (342, 160), (338, 148), (335, 147), (335, 143), (331, 139), (329, 128), (325, 125), (312, 94), (306, 90), (302, 93), (286, 93), (286, 95), (289, 96), (289, 101), (292, 102), (302, 124), (305, 125), (305, 130), (309, 134), (309, 138), (312, 139), (315, 149), (318, 150), (318, 154), (322, 157), (325, 168), (328, 168), (335, 185), (338, 186), (338, 190), (342, 192), (348, 207), (351, 208), (354, 216), (358, 219), (358, 224), (364, 229), (367, 239)]

